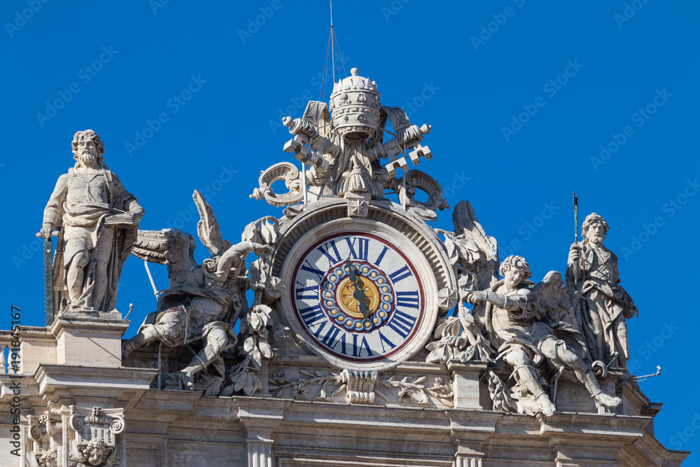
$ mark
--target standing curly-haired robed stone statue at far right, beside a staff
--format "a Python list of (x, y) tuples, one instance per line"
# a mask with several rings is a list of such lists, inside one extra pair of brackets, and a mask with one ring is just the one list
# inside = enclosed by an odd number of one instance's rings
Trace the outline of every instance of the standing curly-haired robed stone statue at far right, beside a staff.
[(638, 314), (629, 294), (619, 285), (617, 256), (603, 245), (608, 223), (593, 213), (582, 225), (583, 242), (571, 245), (566, 284), (575, 296), (591, 356), (612, 368), (629, 360), (627, 324)]

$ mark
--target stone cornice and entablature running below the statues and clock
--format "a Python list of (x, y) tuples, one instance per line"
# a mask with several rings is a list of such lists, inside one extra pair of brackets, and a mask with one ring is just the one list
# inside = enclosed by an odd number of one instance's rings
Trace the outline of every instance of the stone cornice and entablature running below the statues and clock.
[[(1, 377), (1, 403), (8, 413), (18, 382), (22, 456), (40, 458), (54, 449), (63, 463), (22, 463), (4, 449), (3, 466), (80, 465), (69, 463), (76, 439), (71, 417), (89, 416), (92, 407), (117, 413), (124, 426), (111, 438), (120, 458), (88, 466), (680, 466), (688, 454), (654, 438), (660, 404), (632, 382), (619, 384), (614, 371), (605, 383), (622, 405), (603, 414), (584, 388), (566, 380), (551, 417), (493, 410), (483, 362), (402, 363), (377, 377), (372, 403), (348, 403), (344, 393), (333, 396), (333, 383), (323, 397), (321, 378), (339, 372), (308, 354), (261, 368), (266, 384), (254, 396), (210, 397), (158, 390), (152, 350), (134, 352), (124, 366), (59, 363), (58, 327), (23, 330), (22, 351), (43, 358), (23, 361), (18, 379)], [(96, 328), (69, 342), (69, 359), (102, 337)], [(3, 331), (2, 342), (8, 334)], [(112, 339), (120, 344), (119, 333)], [(172, 357), (162, 352), (164, 366)], [(511, 370), (501, 365), (496, 371), (505, 379)], [(294, 388), (304, 380), (314, 382), (306, 391)], [(274, 394), (283, 381), (295, 385)], [(402, 381), (414, 391), (410, 399), (402, 400), (401, 386), (391, 384)], [(421, 391), (427, 402), (421, 403)], [(11, 426), (2, 429), (10, 433)]]

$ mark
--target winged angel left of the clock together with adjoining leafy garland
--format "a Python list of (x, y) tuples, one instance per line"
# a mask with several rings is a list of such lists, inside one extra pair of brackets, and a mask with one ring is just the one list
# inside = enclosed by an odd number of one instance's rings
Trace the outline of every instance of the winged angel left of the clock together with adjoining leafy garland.
[[(193, 256), (195, 239), (181, 230), (139, 230), (134, 256), (167, 265), (169, 288), (160, 291), (155, 319), (149, 323), (147, 318), (137, 335), (123, 343), (122, 354), (127, 357), (134, 349), (157, 340), (169, 347), (189, 347), (194, 354), (192, 361), (169, 375), (168, 388), (181, 384), (206, 390), (206, 395), (229, 395), (241, 389), (251, 394), (261, 387), (255, 370), (263, 357), (272, 357), (267, 340), (272, 310), (262, 304), (261, 297), (262, 292), (267, 297), (281, 295), (281, 283), (262, 272), (260, 261), (272, 252), (270, 244), (276, 242), (277, 221), (268, 216), (249, 224), (243, 241), (232, 244), (222, 238), (214, 211), (202, 194), (195, 190), (193, 199), (201, 218), (197, 234), (211, 258), (197, 264)], [(248, 271), (249, 253), (255, 253), (258, 260)], [(255, 291), (250, 308), (247, 288)], [(227, 372), (222, 352), (237, 347), (234, 328), (239, 318), (245, 340), (242, 349), (237, 350), (245, 356)], [(195, 352), (190, 344), (197, 342), (202, 348)], [(231, 384), (222, 390), (227, 377)]]

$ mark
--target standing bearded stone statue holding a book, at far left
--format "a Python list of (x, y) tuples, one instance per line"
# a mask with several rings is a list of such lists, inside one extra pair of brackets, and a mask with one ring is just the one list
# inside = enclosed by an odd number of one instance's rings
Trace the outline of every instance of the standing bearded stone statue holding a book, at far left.
[[(59, 177), (37, 236), (57, 235), (53, 263), (56, 309), (109, 312), (119, 275), (137, 238), (144, 209), (104, 163), (104, 144), (92, 130), (73, 136), (75, 167)], [(57, 232), (55, 232), (57, 230)]]

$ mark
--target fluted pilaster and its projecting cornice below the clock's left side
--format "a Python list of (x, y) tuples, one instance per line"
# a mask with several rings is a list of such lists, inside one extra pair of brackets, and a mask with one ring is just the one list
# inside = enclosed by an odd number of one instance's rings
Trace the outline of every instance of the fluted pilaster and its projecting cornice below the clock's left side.
[(283, 419), (291, 400), (233, 398), (244, 426), (248, 467), (272, 467), (272, 431)]

